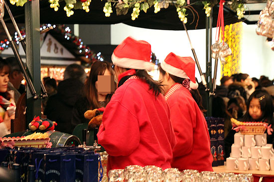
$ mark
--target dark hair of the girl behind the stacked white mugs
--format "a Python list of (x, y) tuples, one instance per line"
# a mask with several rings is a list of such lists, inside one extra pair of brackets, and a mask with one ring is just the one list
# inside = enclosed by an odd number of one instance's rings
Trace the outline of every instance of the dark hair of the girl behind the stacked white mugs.
[(270, 94), (265, 90), (255, 90), (248, 99), (247, 112), (244, 115), (244, 121), (252, 121), (252, 117), (249, 114), (250, 102), (253, 98), (259, 99), (262, 111), (262, 117), (258, 121), (271, 122), (273, 119), (273, 102)]

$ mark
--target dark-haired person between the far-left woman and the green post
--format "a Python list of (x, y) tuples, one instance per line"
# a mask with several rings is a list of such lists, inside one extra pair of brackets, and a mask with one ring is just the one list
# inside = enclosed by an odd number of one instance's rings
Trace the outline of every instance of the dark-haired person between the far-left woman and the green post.
[(21, 96), (18, 89), (20, 88), (21, 81), (23, 80), (23, 73), (16, 58), (8, 57), (5, 60), (9, 66), (8, 90), (12, 90), (14, 92), (14, 101), (17, 104), (17, 101)]

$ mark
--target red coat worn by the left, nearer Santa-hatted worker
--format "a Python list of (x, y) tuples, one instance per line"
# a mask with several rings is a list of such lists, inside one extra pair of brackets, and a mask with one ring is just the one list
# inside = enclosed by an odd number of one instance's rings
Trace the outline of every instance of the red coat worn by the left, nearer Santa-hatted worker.
[(175, 135), (170, 111), (162, 94), (141, 79), (128, 79), (108, 103), (98, 143), (109, 154), (108, 171), (129, 165), (170, 168)]

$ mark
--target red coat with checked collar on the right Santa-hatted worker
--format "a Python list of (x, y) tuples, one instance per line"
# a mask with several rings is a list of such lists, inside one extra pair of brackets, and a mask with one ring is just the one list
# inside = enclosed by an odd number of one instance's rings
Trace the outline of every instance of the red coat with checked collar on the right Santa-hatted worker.
[(213, 171), (206, 120), (189, 90), (174, 84), (165, 94), (176, 135), (172, 168)]

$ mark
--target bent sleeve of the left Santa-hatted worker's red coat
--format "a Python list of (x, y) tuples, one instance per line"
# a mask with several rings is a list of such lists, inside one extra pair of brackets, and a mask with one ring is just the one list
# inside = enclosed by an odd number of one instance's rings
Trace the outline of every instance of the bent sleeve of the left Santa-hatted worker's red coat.
[(98, 143), (111, 156), (128, 156), (139, 144), (137, 118), (120, 102), (110, 102), (103, 114)]

